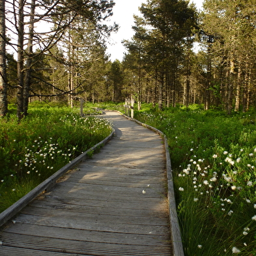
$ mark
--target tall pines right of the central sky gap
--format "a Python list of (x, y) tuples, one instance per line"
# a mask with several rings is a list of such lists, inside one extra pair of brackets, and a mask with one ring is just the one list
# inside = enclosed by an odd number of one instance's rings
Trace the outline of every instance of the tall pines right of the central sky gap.
[[(203, 104), (231, 113), (255, 107), (255, 0), (147, 1), (124, 42), (138, 102)], [(193, 49), (194, 43), (201, 46)]]

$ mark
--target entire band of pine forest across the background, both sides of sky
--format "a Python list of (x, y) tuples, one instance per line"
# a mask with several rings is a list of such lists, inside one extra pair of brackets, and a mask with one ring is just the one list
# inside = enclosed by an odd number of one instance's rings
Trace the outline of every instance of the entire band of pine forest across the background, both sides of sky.
[[(200, 12), (187, 0), (147, 0), (134, 16), (134, 36), (123, 42), (124, 59), (111, 63), (106, 38), (117, 25), (102, 21), (113, 5), (1, 1), (1, 115), (8, 101), (21, 118), (35, 99), (72, 106), (77, 97), (121, 102), (131, 95), (138, 107), (203, 104), (227, 113), (255, 107), (255, 0), (205, 0)], [(50, 31), (38, 29), (42, 21)]]

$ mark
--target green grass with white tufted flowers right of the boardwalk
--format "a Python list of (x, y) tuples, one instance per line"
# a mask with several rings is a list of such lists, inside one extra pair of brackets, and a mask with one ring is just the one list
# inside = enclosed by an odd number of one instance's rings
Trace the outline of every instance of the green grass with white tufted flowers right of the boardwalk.
[(168, 138), (185, 255), (256, 255), (255, 113), (142, 107)]

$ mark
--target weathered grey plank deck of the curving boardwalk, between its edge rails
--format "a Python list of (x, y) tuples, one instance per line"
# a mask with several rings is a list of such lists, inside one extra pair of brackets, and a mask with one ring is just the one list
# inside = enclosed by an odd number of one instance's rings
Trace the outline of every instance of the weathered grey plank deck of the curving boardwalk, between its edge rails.
[(1, 227), (1, 256), (173, 255), (162, 137), (106, 118), (113, 139)]

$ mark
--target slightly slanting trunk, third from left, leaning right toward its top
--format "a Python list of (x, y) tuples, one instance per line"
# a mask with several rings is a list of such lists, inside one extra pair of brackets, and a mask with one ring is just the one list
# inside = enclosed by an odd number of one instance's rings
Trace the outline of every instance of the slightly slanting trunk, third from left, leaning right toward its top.
[(31, 12), (29, 23), (29, 38), (27, 43), (27, 64), (25, 72), (24, 92), (23, 92), (23, 111), (24, 115), (27, 115), (27, 109), (29, 106), (29, 89), (31, 84), (31, 65), (33, 55), (33, 37), (34, 37), (34, 18), (35, 18), (36, 0), (31, 0)]

